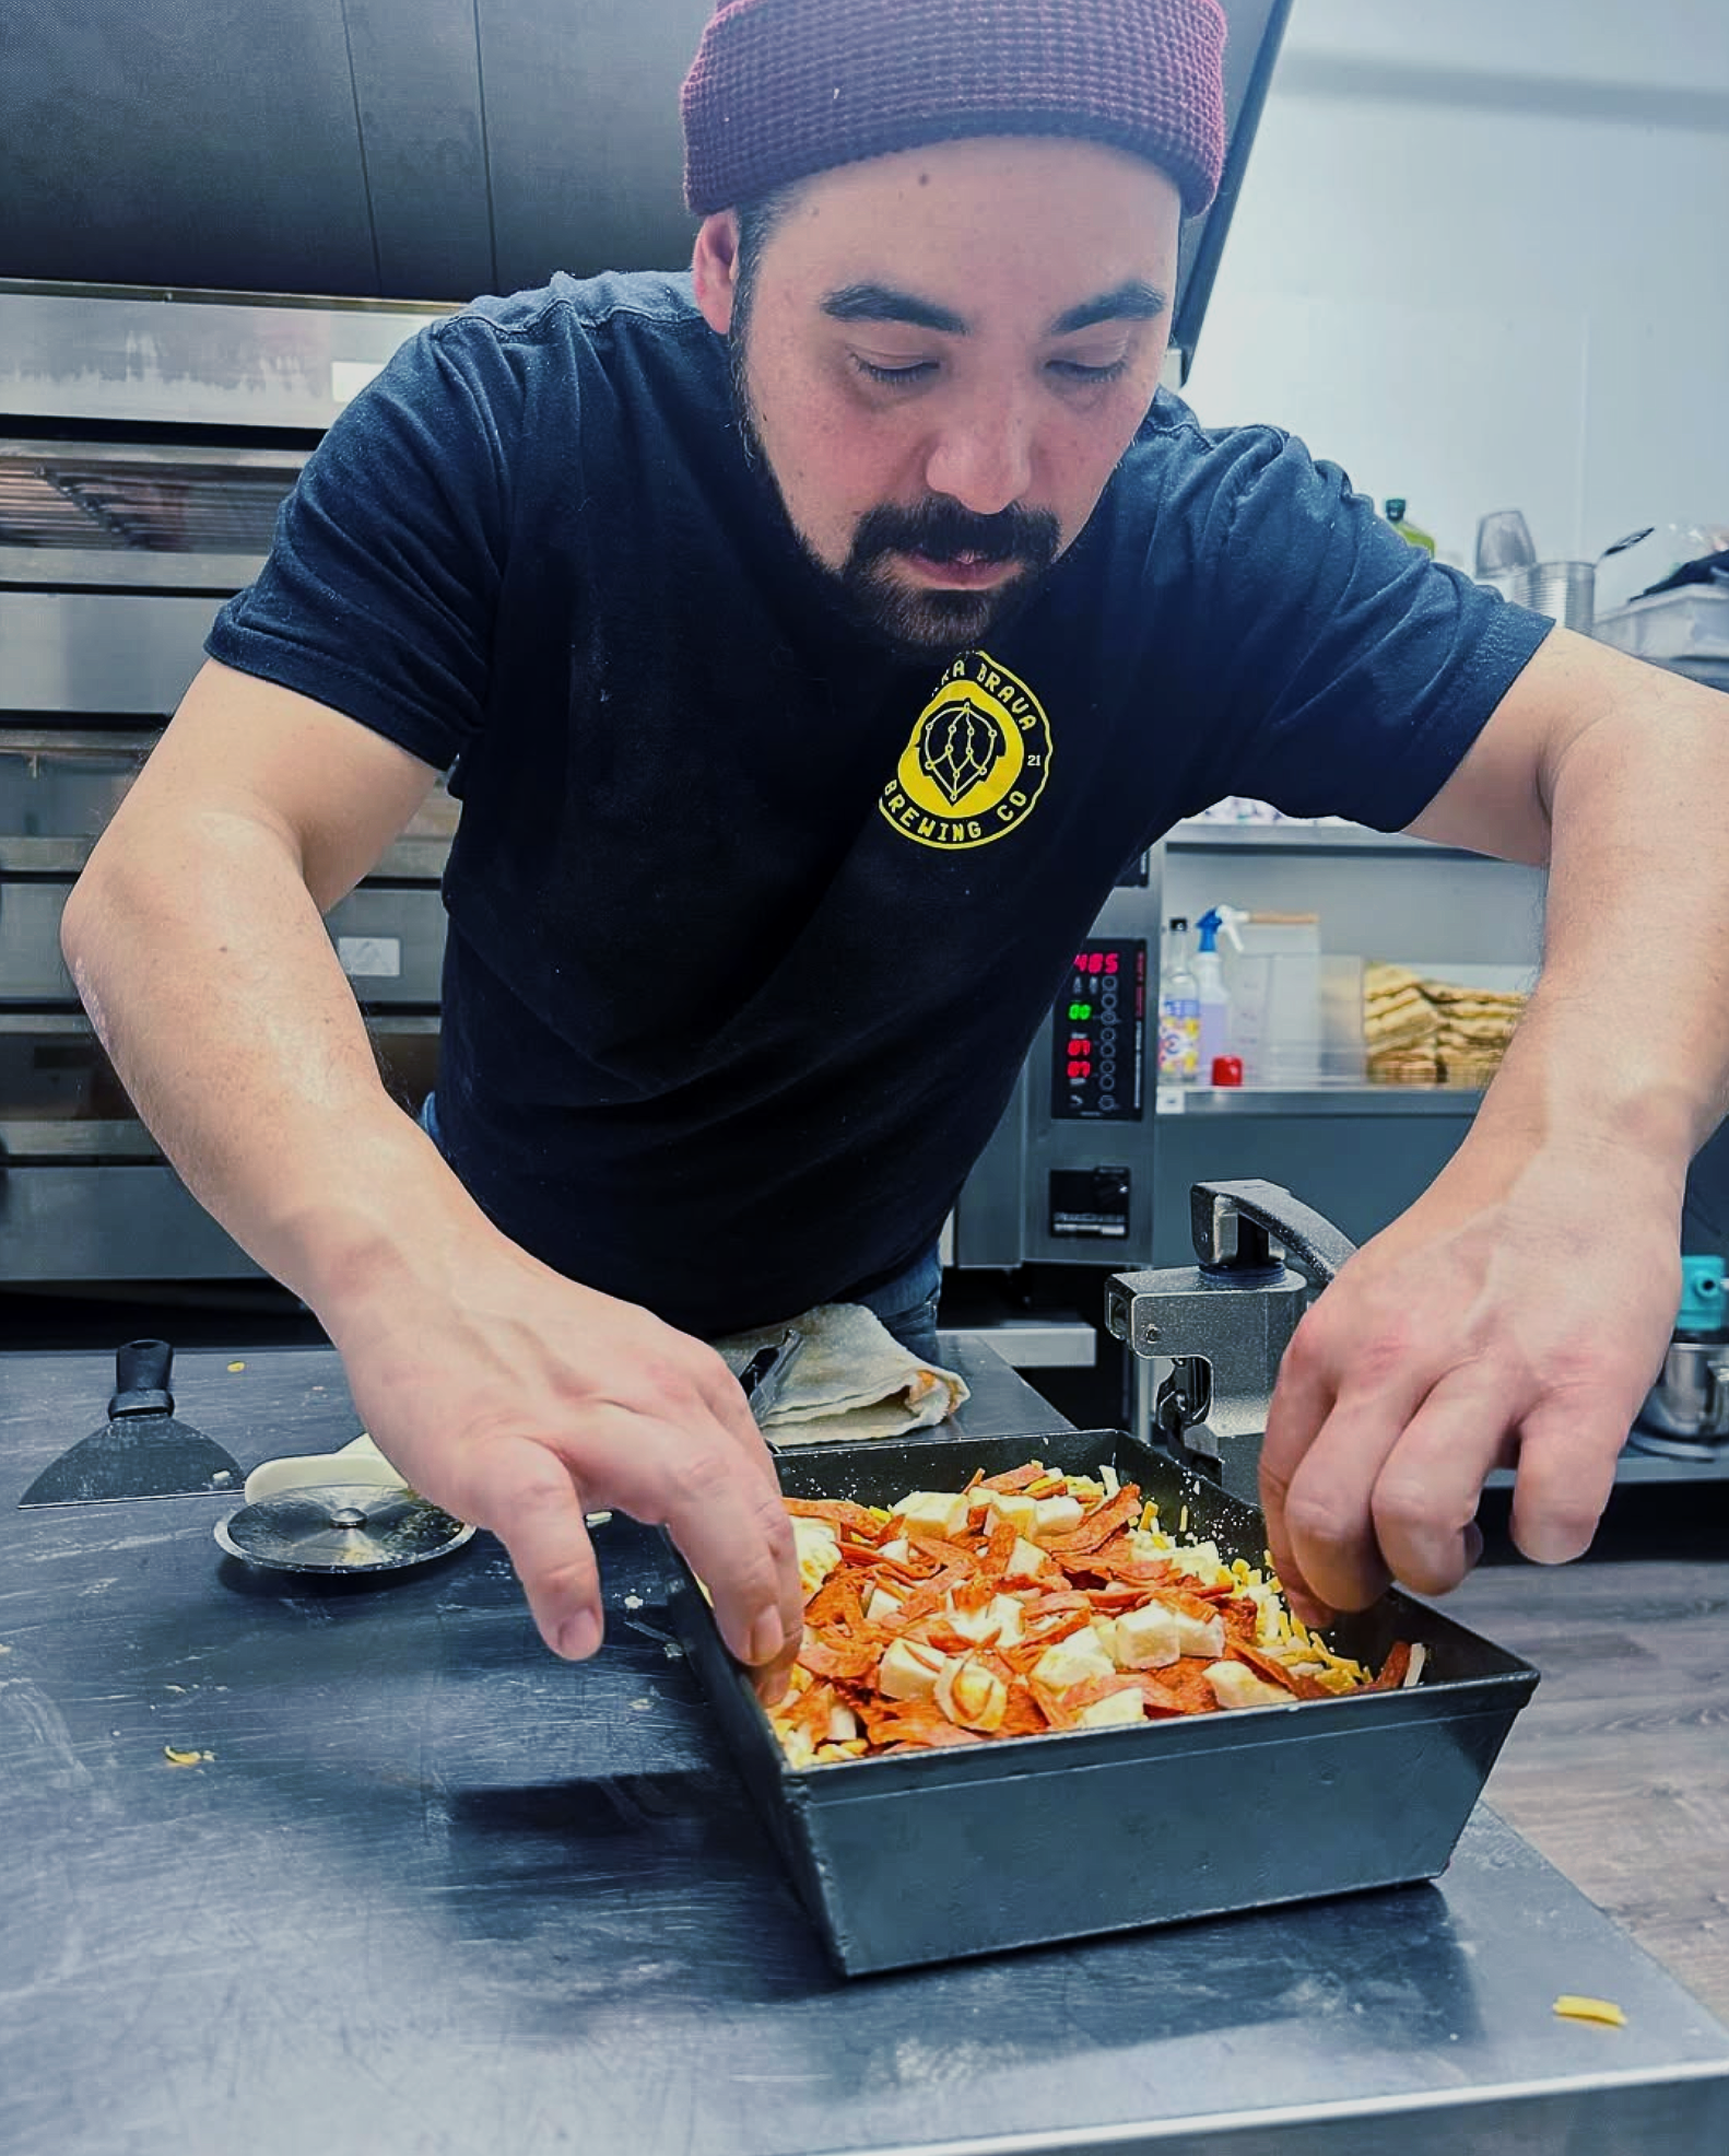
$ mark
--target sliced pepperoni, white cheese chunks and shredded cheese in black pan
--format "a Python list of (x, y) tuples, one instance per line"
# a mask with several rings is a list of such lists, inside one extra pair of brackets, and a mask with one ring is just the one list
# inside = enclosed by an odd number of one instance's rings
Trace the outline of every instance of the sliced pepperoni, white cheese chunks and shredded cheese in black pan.
[[(787, 1498), (804, 1641), (770, 1710), (793, 1766), (1414, 1684), (1291, 1617), (1270, 1567), (1162, 1531), (1138, 1488), (1026, 1462), (893, 1507)], [(1184, 1509), (1179, 1533), (1188, 1524)]]

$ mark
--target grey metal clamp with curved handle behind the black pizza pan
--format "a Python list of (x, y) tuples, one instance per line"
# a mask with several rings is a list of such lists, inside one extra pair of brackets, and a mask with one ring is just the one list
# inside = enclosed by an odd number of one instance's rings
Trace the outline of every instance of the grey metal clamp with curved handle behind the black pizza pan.
[(1188, 1203), (1199, 1263), (1119, 1272), (1104, 1322), (1134, 1354), (1171, 1358), (1153, 1406), (1166, 1445), (1253, 1501), (1278, 1360), (1356, 1244), (1281, 1184), (1194, 1184)]

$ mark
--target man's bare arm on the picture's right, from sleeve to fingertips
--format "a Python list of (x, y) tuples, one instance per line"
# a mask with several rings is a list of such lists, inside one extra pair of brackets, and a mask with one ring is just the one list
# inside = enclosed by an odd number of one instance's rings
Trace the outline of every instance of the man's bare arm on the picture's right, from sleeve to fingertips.
[(1388, 1578), (1455, 1587), (1496, 1466), (1529, 1557), (1589, 1546), (1675, 1324), (1688, 1162), (1729, 1104), (1725, 804), (1729, 703), (1557, 630), (1410, 826), (1548, 862), (1546, 953), (1464, 1145), (1285, 1356), (1261, 1496), (1311, 1619)]

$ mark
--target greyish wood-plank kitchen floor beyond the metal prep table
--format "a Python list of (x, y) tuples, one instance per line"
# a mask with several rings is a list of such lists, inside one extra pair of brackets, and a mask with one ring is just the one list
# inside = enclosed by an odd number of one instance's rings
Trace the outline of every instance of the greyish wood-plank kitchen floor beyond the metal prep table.
[[(185, 1350), (323, 1339), (280, 1289), (207, 1296), (0, 1294), (0, 1354), (134, 1337)], [(1095, 1421), (1091, 1399), (1054, 1406)], [(93, 1401), (93, 1427), (99, 1410)], [(1559, 1567), (1518, 1557), (1507, 1509), (1490, 1492), (1485, 1563), (1444, 1604), (1541, 1673), (1488, 1800), (1729, 2022), (1729, 1483), (1619, 1488), (1593, 1554)], [(1589, 1968), (1574, 1988), (1595, 1990)]]

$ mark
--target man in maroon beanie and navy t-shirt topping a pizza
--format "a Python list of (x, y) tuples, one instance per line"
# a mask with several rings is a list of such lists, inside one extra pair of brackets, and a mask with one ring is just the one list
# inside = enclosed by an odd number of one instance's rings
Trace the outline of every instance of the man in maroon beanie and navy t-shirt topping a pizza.
[[(698, 1337), (918, 1324), (1074, 938), (1237, 791), (1550, 862), (1470, 1138), (1281, 1376), (1294, 1600), (1455, 1585), (1498, 1462), (1531, 1557), (1591, 1537), (1729, 1067), (1720, 938), (1647, 934), (1677, 854), (1720, 912), (1718, 707), (1156, 397), (1218, 58), (1214, 0), (733, 0), (686, 84), (692, 280), (399, 354), (67, 908), (170, 1158), (561, 1654), (599, 1641), (606, 1505), (780, 1682), (789, 1537)], [(446, 765), (433, 1143), (319, 910)]]

